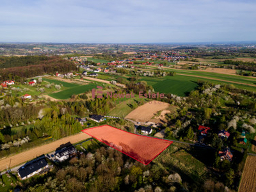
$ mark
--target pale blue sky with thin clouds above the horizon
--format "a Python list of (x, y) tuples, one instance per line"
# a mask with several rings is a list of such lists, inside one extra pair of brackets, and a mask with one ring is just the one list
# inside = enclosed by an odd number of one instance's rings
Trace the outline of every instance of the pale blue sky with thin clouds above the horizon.
[(1, 0), (0, 42), (256, 40), (255, 0)]

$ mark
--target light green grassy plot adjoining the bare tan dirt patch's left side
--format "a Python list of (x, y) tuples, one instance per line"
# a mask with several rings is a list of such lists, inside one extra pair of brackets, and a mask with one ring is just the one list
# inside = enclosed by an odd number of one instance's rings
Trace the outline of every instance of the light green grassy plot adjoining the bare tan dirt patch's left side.
[(138, 102), (145, 104), (147, 101), (148, 99), (139, 98), (139, 95), (135, 95), (134, 98), (130, 99), (115, 100), (115, 108), (109, 111), (107, 115), (125, 117), (138, 106)]

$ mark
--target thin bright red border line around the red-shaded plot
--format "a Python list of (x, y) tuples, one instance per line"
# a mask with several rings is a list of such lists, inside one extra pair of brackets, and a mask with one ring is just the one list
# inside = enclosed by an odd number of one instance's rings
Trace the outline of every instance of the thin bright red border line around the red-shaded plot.
[[(88, 129), (94, 129), (94, 128), (103, 127), (103, 126), (112, 127), (112, 126), (110, 126), (110, 125), (100, 125), (100, 126), (91, 127), (91, 128), (88, 128)], [(118, 129), (118, 128), (116, 128), (116, 127), (112, 127), (112, 128)], [(84, 132), (85, 134), (88, 134), (87, 132), (85, 132), (85, 131), (88, 130), (88, 129), (83, 129), (82, 132)], [(124, 130), (122, 130), (122, 129), (118, 129), (118, 130), (119, 130), (119, 131), (124, 131)], [(127, 132), (127, 131), (124, 131), (124, 132)], [(132, 133), (132, 132), (127, 132), (127, 133), (129, 133), (129, 134), (134, 134), (134, 133)], [(95, 138), (95, 136), (92, 136), (91, 134), (88, 134), (88, 135), (90, 135), (91, 137)], [(152, 137), (143, 136), (143, 135), (139, 135), (139, 134), (134, 134), (134, 135), (136, 135), (136, 136), (141, 136), (141, 137), (145, 137), (145, 138), (151, 138), (152, 140), (161, 140), (161, 139), (159, 139), (159, 138), (152, 138)], [(96, 139), (96, 140), (99, 140), (98, 138), (95, 138), (95, 139)], [(108, 145), (108, 144), (105, 143), (104, 141), (101, 141), (101, 140), (99, 140), (99, 141), (102, 142), (102, 143), (104, 143), (104, 144), (106, 144), (106, 145)], [(168, 141), (168, 140), (161, 140), (161, 141)], [(168, 141), (168, 142), (170, 142), (170, 144), (169, 144), (167, 147), (169, 147), (169, 146), (173, 143), (173, 141)], [(109, 146), (109, 147), (112, 147), (112, 146), (110, 146), (110, 145), (108, 145), (108, 146)], [(161, 152), (163, 152), (167, 147), (165, 147), (163, 150), (161, 150)], [(112, 147), (112, 148), (115, 148), (115, 147)], [(118, 150), (118, 151), (122, 152), (122, 151), (119, 150), (118, 148), (115, 148), (115, 150)], [(159, 154), (161, 154), (161, 152), (159, 152)], [(125, 152), (122, 152), (122, 153), (125, 154), (126, 156), (129, 156), (129, 155), (126, 154)], [(136, 158), (134, 158), (134, 157), (132, 157), (132, 156), (129, 156), (129, 157), (131, 157), (132, 159), (135, 159), (136, 161), (139, 161), (140, 163), (143, 163), (143, 164), (145, 164), (145, 165), (148, 165), (148, 164), (149, 164), (151, 161), (153, 161), (157, 156), (159, 156), (159, 154), (157, 154), (155, 157), (153, 157), (147, 164), (141, 162), (140, 160), (138, 160), (138, 159), (136, 159)]]

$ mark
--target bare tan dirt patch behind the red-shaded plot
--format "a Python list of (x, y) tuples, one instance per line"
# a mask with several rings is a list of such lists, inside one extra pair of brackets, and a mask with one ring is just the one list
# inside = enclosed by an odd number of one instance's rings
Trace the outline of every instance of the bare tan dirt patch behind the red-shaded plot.
[(169, 106), (170, 104), (166, 102), (160, 102), (160, 101), (147, 102), (146, 104), (143, 104), (143, 106), (140, 106), (134, 109), (131, 113), (125, 116), (125, 118), (131, 118), (138, 122), (147, 122), (147, 121), (154, 122), (154, 119), (152, 120), (152, 118), (157, 114), (157, 111), (162, 111), (168, 108)]

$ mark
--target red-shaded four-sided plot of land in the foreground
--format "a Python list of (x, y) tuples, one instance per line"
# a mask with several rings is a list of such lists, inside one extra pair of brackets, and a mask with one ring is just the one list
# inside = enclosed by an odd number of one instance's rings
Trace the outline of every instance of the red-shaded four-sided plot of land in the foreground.
[(172, 144), (172, 141), (140, 136), (109, 125), (84, 129), (83, 132), (146, 165)]

